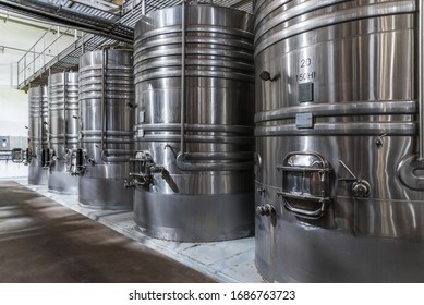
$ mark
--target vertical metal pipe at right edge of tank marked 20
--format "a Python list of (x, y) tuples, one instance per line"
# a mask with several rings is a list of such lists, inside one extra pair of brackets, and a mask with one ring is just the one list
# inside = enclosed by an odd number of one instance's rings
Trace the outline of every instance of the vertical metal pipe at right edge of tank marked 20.
[(424, 3), (416, 0), (419, 8), (419, 161), (424, 160)]

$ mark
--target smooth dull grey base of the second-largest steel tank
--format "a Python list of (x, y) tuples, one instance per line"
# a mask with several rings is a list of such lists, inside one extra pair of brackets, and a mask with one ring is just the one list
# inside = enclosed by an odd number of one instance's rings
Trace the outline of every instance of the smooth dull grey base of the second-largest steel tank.
[(217, 242), (254, 232), (251, 193), (178, 195), (136, 190), (134, 220), (143, 233), (175, 242)]

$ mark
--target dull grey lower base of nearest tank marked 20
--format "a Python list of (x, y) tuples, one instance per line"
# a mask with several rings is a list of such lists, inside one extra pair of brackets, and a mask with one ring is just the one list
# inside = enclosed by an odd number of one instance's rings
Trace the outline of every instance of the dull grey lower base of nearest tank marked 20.
[[(278, 228), (278, 229), (277, 229)], [(268, 282), (401, 283), (423, 282), (417, 271), (421, 242), (354, 236), (330, 230), (280, 223), (270, 247), (256, 244), (255, 263)], [(256, 227), (262, 234), (261, 228)], [(274, 248), (272, 248), (274, 247)]]

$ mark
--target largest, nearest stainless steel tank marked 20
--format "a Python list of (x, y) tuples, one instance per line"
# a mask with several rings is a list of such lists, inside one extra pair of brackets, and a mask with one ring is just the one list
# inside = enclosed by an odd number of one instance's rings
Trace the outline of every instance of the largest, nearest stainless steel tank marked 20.
[(422, 5), (255, 1), (266, 280), (424, 280)]

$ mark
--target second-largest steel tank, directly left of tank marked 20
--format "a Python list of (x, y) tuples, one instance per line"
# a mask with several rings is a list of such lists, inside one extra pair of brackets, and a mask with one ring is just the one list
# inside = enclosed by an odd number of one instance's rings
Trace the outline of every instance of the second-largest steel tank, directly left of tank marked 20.
[(154, 237), (253, 233), (253, 23), (208, 4), (135, 26), (134, 215)]

